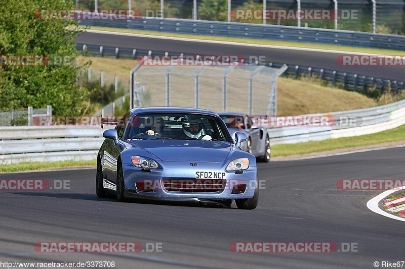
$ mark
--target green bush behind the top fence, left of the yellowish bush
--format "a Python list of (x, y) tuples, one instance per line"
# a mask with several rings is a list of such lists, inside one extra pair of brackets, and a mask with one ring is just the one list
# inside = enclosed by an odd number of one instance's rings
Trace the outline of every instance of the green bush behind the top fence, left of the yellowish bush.
[(198, 19), (207, 21), (227, 21), (227, 0), (203, 0), (198, 7)]

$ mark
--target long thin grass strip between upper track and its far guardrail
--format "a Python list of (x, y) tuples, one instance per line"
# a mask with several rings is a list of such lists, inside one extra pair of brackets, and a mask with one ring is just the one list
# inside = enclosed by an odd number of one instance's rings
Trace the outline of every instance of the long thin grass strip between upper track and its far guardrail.
[[(236, 43), (258, 44), (258, 45), (316, 48), (316, 49), (340, 50), (340, 51), (350, 51), (350, 52), (374, 53), (374, 54), (392, 55), (392, 56), (394, 56), (394, 55), (402, 56), (403, 55), (402, 50), (393, 50), (393, 49), (351, 47), (351, 46), (342, 46), (342, 45), (316, 44), (316, 43), (293, 42), (293, 41), (278, 41), (278, 40), (267, 40), (267, 39), (253, 39), (253, 38), (243, 38), (243, 37), (177, 34), (177, 33), (133, 30), (133, 29), (123, 29), (123, 28), (112, 28), (112, 27), (92, 26), (90, 29), (99, 30), (99, 31), (108, 31), (108, 32), (157, 35), (157, 36), (179, 37), (179, 38), (189, 38), (189, 39), (199, 39), (199, 40), (227, 41), (227, 42), (236, 42)], [(136, 44), (134, 44), (134, 47), (136, 47)], [(181, 47), (179, 47), (179, 49), (181, 50)]]

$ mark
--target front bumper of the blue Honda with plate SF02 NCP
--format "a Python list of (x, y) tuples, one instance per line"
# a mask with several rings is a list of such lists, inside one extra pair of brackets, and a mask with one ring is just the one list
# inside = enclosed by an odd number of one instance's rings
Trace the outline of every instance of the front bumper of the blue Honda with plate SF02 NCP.
[[(169, 164), (168, 164), (169, 163)], [(215, 167), (218, 169), (215, 169)], [(152, 199), (161, 201), (197, 201), (204, 199), (246, 199), (252, 198), (256, 187), (256, 167), (250, 167), (243, 173), (225, 172), (226, 180), (223, 180), (221, 189), (218, 190), (193, 190), (193, 191), (169, 191), (164, 182), (198, 181), (195, 180), (196, 171), (225, 171), (220, 164), (198, 163), (198, 169), (191, 167), (189, 162), (165, 162), (162, 169), (151, 170), (150, 172), (134, 167), (132, 164), (123, 164), (125, 180), (125, 196), (128, 198)], [(214, 168), (214, 169), (213, 169)], [(207, 180), (201, 179), (202, 182)], [(208, 180), (209, 181), (209, 180)], [(214, 180), (213, 180), (214, 181)], [(138, 182), (138, 185), (137, 185)], [(148, 191), (139, 188), (140, 183), (152, 183), (152, 190)], [(142, 185), (142, 184), (141, 184)], [(235, 186), (244, 186), (243, 192), (235, 193)], [(202, 199), (202, 200), (201, 200)]]

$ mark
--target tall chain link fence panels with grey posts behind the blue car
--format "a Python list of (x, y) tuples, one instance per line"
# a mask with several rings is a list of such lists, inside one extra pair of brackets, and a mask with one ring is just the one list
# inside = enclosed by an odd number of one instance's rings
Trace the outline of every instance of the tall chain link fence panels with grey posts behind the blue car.
[(275, 116), (276, 79), (287, 66), (142, 66), (131, 71), (131, 107), (186, 106)]

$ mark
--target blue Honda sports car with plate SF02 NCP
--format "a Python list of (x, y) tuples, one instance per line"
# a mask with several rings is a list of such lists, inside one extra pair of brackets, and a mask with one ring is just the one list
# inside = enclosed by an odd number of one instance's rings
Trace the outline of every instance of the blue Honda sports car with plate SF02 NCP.
[(99, 197), (195, 201), (254, 209), (259, 200), (256, 158), (240, 149), (210, 110), (144, 107), (106, 130), (97, 156)]

